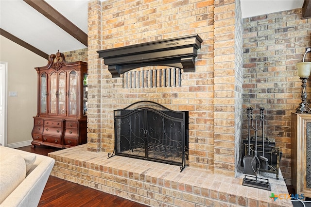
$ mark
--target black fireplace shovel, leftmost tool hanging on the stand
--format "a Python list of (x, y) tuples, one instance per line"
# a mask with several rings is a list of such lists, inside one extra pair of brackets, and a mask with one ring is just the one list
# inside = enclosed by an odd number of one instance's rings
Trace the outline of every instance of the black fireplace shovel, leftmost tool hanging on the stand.
[(244, 166), (244, 174), (252, 174), (255, 175), (255, 169), (256, 169), (256, 162), (254, 162), (253, 158), (254, 156), (251, 155), (251, 147), (250, 147), (250, 113), (252, 112), (253, 108), (252, 107), (248, 107), (247, 108), (247, 121), (248, 121), (248, 154), (244, 155), (243, 157), (243, 166)]

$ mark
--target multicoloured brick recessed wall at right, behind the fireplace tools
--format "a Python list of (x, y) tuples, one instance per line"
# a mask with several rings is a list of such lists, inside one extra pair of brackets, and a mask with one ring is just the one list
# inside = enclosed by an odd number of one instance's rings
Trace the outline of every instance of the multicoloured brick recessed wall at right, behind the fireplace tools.
[[(302, 62), (305, 47), (311, 46), (311, 19), (301, 19), (301, 9), (294, 9), (243, 21), (243, 109), (265, 107), (266, 133), (283, 152), (280, 168), (290, 185), (291, 113), (301, 102), (295, 63)], [(310, 100), (310, 79), (307, 86)]]

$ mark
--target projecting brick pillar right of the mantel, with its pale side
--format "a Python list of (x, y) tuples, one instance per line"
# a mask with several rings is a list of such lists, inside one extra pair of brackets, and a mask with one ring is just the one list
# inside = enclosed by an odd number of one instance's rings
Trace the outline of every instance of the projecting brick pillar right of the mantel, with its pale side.
[[(242, 121), (242, 14), (240, 1), (214, 2), (214, 173), (234, 172)], [(234, 175), (233, 173), (231, 175)]]

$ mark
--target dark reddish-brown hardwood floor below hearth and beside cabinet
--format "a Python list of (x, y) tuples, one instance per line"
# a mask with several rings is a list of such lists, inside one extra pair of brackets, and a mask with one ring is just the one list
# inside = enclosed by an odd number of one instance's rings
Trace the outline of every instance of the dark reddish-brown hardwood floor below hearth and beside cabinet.
[[(48, 155), (57, 148), (36, 146), (20, 147), (19, 150)], [(50, 176), (43, 190), (38, 207), (147, 207), (116, 195), (91, 189), (58, 177)]]

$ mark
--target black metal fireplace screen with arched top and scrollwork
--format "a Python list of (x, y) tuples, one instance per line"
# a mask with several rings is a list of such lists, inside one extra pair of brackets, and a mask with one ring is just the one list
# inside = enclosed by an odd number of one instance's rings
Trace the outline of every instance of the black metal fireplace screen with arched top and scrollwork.
[(150, 101), (115, 110), (113, 154), (179, 165), (182, 171), (188, 158), (188, 120), (188, 112)]

